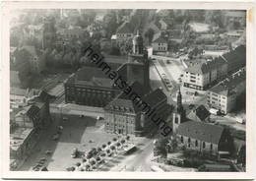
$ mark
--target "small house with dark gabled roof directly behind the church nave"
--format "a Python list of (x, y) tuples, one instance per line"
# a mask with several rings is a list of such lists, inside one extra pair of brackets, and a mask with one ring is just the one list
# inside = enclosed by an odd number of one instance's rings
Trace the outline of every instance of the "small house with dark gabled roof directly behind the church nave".
[(204, 105), (199, 105), (192, 109), (187, 118), (193, 121), (209, 122), (211, 113)]

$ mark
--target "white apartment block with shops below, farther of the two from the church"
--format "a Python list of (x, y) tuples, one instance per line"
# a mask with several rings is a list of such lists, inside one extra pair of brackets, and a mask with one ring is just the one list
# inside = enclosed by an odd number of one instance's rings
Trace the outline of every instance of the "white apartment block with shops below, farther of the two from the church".
[(223, 59), (205, 60), (185, 69), (183, 87), (205, 91), (210, 84), (224, 79), (227, 64)]

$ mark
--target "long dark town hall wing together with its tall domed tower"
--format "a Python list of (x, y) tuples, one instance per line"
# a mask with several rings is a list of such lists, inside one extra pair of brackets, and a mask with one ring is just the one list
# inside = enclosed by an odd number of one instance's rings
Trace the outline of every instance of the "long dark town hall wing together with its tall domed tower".
[[(92, 49), (93, 51), (93, 49)], [(120, 57), (121, 58), (121, 57)], [(109, 59), (109, 58), (107, 58)], [(123, 60), (121, 58), (121, 60)], [(107, 66), (103, 69), (93, 65), (83, 67), (65, 82), (65, 101), (82, 105), (104, 107), (110, 102), (120, 90), (114, 85), (105, 74), (104, 69), (111, 69), (122, 76), (123, 81), (128, 85), (138, 82), (143, 89), (150, 89), (150, 73), (148, 53), (144, 50), (143, 38), (140, 34), (134, 36), (133, 52), (122, 64), (120, 61), (106, 60)]]

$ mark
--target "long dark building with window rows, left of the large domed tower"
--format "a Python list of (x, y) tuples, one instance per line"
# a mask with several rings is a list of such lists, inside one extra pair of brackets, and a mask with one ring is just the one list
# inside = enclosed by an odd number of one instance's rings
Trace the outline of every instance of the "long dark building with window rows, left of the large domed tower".
[(103, 107), (120, 92), (113, 84), (101, 69), (83, 67), (65, 82), (65, 101)]

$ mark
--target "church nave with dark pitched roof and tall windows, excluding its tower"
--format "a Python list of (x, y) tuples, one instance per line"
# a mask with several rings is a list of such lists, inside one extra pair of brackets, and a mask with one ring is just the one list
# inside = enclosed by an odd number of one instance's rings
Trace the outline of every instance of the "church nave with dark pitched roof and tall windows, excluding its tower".
[(186, 150), (219, 155), (219, 151), (229, 151), (232, 140), (222, 126), (198, 121), (187, 121), (177, 128), (179, 146)]

